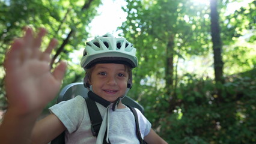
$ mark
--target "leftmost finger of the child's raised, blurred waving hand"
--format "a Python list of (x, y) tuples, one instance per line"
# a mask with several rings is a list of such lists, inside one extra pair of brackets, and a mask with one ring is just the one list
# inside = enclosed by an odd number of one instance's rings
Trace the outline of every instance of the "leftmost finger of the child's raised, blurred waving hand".
[(11, 44), (10, 50), (5, 55), (4, 67), (5, 70), (12, 70), (13, 67), (17, 67), (22, 63), (21, 49), (23, 41), (20, 39), (14, 40), (13, 44)]

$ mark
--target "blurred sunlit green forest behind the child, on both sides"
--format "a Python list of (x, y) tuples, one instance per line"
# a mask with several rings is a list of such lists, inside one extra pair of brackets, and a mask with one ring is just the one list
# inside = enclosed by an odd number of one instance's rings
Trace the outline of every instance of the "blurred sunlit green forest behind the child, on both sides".
[[(195, 1), (126, 0), (127, 20), (118, 31), (135, 44), (139, 59), (129, 96), (168, 143), (256, 143), (256, 1), (232, 13), (228, 5), (242, 0)], [(51, 65), (68, 62), (63, 86), (82, 82), (84, 71), (72, 53), (84, 49), (100, 4), (0, 0), (1, 110), (7, 109), (5, 52), (23, 26), (46, 28), (43, 46), (59, 40)]]

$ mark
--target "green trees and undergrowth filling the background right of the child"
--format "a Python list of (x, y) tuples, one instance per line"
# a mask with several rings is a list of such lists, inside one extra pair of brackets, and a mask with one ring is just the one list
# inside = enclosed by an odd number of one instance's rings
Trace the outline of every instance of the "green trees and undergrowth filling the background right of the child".
[[(127, 21), (120, 29), (135, 44), (140, 62), (134, 71), (136, 87), (129, 94), (145, 106), (160, 136), (169, 143), (255, 143), (256, 2), (227, 14), (227, 5), (237, 1), (218, 1), (223, 84), (210, 73), (213, 45), (207, 2), (127, 2)], [(179, 68), (197, 58), (196, 64), (203, 65), (195, 68), (202, 69), (199, 73), (188, 72), (190, 65)]]

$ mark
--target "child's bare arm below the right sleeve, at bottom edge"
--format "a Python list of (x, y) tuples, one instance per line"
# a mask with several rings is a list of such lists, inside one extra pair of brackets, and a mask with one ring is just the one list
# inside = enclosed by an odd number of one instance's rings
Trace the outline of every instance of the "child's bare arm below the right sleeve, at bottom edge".
[(158, 134), (156, 134), (156, 132), (154, 132), (154, 130), (152, 129), (150, 130), (150, 133), (144, 137), (144, 140), (148, 144), (168, 144), (167, 142), (165, 142), (165, 140), (158, 136)]

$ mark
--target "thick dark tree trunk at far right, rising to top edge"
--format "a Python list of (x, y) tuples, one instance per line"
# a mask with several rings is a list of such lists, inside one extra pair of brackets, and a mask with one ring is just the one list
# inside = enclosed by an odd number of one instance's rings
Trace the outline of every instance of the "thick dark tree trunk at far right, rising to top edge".
[(210, 0), (211, 9), (211, 31), (212, 31), (212, 42), (213, 42), (213, 58), (215, 68), (215, 81), (224, 83), (223, 77), (223, 65), (222, 61), (222, 41), (221, 41), (221, 29), (219, 26), (219, 13), (217, 11), (218, 0)]

